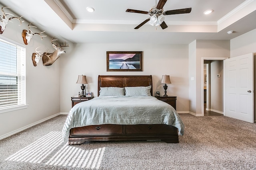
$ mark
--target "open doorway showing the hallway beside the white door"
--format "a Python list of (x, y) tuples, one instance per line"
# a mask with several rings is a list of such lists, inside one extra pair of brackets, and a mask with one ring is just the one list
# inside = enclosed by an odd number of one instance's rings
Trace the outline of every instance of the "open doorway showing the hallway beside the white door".
[[(202, 113), (224, 115), (224, 66), (228, 57), (202, 58)], [(205, 99), (206, 98), (206, 99)]]

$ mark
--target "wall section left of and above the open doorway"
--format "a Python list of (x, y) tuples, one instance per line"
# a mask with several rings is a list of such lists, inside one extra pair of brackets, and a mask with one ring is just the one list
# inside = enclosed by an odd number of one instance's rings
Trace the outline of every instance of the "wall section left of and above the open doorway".
[[(189, 111), (193, 115), (203, 115), (203, 64), (202, 58), (225, 58), (230, 56), (229, 40), (196, 40), (189, 45)], [(195, 64), (195, 65), (194, 65)], [(194, 80), (191, 80), (194, 77)]]

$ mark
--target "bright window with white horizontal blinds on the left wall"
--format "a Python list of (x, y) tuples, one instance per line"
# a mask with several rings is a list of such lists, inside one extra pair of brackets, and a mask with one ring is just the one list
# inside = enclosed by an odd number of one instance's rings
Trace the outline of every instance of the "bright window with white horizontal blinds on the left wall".
[(26, 105), (26, 49), (22, 46), (0, 37), (0, 110), (2, 112), (6, 112), (7, 108)]

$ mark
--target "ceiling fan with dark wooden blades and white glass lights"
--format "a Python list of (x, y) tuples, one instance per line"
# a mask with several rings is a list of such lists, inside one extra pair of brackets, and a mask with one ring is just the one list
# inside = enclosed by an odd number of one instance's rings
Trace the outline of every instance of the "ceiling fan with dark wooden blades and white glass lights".
[(158, 4), (156, 6), (153, 6), (149, 12), (147, 11), (140, 11), (140, 10), (132, 10), (127, 9), (126, 12), (133, 12), (133, 13), (140, 13), (140, 14), (148, 14), (150, 15), (150, 18), (146, 19), (142, 23), (140, 23), (137, 27), (134, 29), (140, 28), (142, 25), (150, 21), (150, 25), (158, 26), (160, 25), (162, 29), (166, 29), (168, 25), (164, 22), (164, 16), (167, 15), (174, 15), (174, 14), (187, 14), (190, 13), (192, 8), (184, 8), (184, 9), (178, 9), (178, 10), (168, 10), (164, 11), (163, 7), (167, 0), (159, 0)]

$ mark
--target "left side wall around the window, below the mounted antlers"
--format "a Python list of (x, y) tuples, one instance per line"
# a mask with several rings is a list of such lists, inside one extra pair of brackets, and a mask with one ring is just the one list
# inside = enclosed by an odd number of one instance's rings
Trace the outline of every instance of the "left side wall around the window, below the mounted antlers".
[[(24, 44), (22, 30), (27, 29), (27, 25), (27, 22), (23, 22), (19, 26), (18, 20), (9, 22), (0, 37)], [(40, 47), (38, 50), (42, 52), (54, 51), (51, 38), (44, 37), (42, 41), (39, 36), (34, 35), (26, 45), (26, 104), (29, 106), (26, 109), (0, 113), (0, 139), (60, 112), (59, 61), (57, 60), (52, 66), (43, 66), (40, 61), (35, 67), (32, 63), (32, 53), (35, 52), (36, 47)]]

